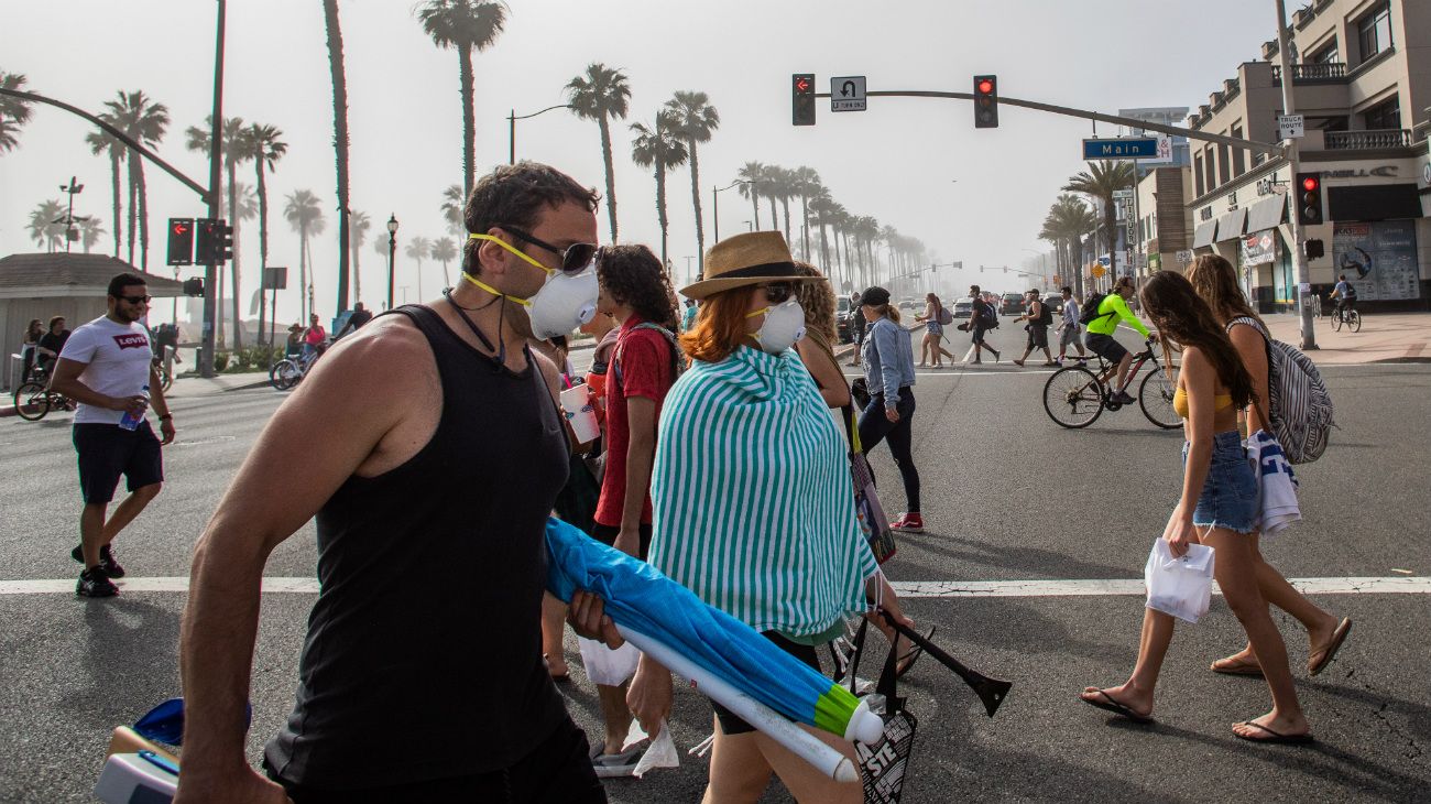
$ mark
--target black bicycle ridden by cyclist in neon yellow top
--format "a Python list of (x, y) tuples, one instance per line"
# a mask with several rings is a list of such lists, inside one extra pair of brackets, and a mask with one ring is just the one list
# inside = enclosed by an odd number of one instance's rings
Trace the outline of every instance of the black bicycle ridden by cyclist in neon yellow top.
[[(1098, 356), (1098, 372), (1086, 366), (1068, 366), (1053, 372), (1049, 382), (1043, 385), (1043, 409), (1049, 418), (1060, 426), (1082, 429), (1098, 421), (1103, 411), (1118, 411), (1123, 406), (1118, 401), (1119, 392), (1126, 392), (1138, 373), (1148, 363), (1152, 363), (1138, 386), (1138, 406), (1142, 408), (1148, 421), (1162, 429), (1173, 429), (1182, 425), (1182, 418), (1172, 409), (1172, 396), (1176, 391), (1172, 376), (1153, 355), (1156, 340), (1149, 339), (1146, 349), (1133, 355), (1133, 363), (1128, 366), (1128, 379), (1116, 391), (1109, 386), (1109, 378), (1116, 371), (1116, 365), (1109, 365), (1102, 355)], [(1169, 363), (1171, 366), (1171, 363)]]

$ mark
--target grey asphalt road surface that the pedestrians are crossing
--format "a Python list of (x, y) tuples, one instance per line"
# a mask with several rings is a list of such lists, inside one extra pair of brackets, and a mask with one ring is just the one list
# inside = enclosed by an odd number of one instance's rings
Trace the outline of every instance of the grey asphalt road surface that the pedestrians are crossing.
[[(966, 343), (963, 336), (956, 342)], [(1006, 322), (995, 343), (1022, 350), (1022, 332)], [(1425, 522), (1421, 443), (1431, 366), (1324, 372), (1341, 429), (1322, 461), (1298, 469), (1307, 521), (1268, 541), (1264, 552), (1289, 578), (1431, 574), (1418, 525)], [(919, 373), (914, 455), (929, 532), (902, 538), (887, 565), (894, 581), (1141, 577), (1178, 495), (1181, 435), (1155, 429), (1136, 408), (1105, 413), (1086, 431), (1058, 428), (1042, 409), (1046, 378), (1007, 362)], [(169, 484), (117, 542), (132, 578), (187, 574), (195, 538), (280, 399), (266, 389), (173, 399), (179, 442), (165, 455)], [(873, 459), (889, 478), (886, 508), (897, 512), (903, 494), (889, 454), (881, 446)], [(0, 421), (0, 589), (30, 579), (67, 579), (72, 588), (79, 496), (67, 416)], [(308, 525), (278, 548), (268, 575), (311, 578), (313, 564)], [(312, 599), (265, 597), (249, 732), (255, 761), (292, 705)], [(920, 661), (902, 688), (920, 721), (904, 801), (1425, 801), (1431, 598), (1315, 599), (1357, 625), (1337, 662), (1308, 678), (1298, 670), (1307, 661), (1305, 635), (1278, 615), (1318, 735), (1315, 747), (1279, 748), (1245, 744), (1229, 731), (1234, 721), (1262, 714), (1269, 698), (1259, 680), (1208, 672), (1211, 660), (1242, 644), (1218, 599), (1203, 622), (1178, 629), (1158, 724), (1135, 727), (1079, 704), (1076, 692), (1129, 672), (1139, 597), (909, 598), (912, 617), (939, 627), (939, 644), (1015, 688), (987, 720), (950, 672)], [(90, 800), (109, 730), (179, 692), (183, 602), (182, 592), (163, 591), (109, 601), (69, 591), (0, 594), (0, 800)], [(595, 694), (570, 641), (568, 660), (570, 710), (598, 734)], [(698, 800), (705, 761), (684, 748), (710, 732), (710, 708), (678, 691), (671, 725), (683, 767), (611, 783), (612, 801)], [(788, 800), (778, 783), (766, 795)]]

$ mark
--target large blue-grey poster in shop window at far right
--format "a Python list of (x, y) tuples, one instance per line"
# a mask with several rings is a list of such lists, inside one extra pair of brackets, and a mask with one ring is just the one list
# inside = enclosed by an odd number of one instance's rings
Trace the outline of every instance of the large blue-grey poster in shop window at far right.
[(1347, 275), (1358, 299), (1421, 298), (1414, 220), (1337, 223), (1332, 265), (1338, 275)]

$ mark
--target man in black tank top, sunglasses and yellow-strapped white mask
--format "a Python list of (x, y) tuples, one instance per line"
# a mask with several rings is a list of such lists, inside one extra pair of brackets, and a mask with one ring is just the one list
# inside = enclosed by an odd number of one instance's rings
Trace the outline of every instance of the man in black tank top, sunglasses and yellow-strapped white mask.
[[(595, 203), (542, 165), (484, 177), (459, 286), (345, 338), (273, 415), (195, 549), (176, 803), (605, 801), (541, 660), (570, 443), (524, 346), (575, 326), (581, 286), (557, 280), (594, 255)], [(321, 592), (265, 778), (240, 725), (260, 575), (312, 516)], [(571, 611), (620, 644), (600, 599)]]

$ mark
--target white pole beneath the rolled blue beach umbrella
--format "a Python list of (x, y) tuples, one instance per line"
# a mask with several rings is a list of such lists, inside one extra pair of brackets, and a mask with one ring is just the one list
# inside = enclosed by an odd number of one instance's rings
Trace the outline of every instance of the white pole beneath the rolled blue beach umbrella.
[(849, 757), (826, 745), (820, 738), (800, 728), (784, 715), (736, 690), (727, 681), (690, 661), (670, 645), (640, 631), (631, 631), (624, 625), (617, 625), (617, 629), (621, 631), (621, 637), (637, 648), (641, 648), (643, 652), (651, 654), (651, 658), (657, 662), (690, 680), (703, 695), (720, 702), (750, 725), (766, 732), (771, 740), (814, 765), (820, 773), (834, 781), (859, 781), (860, 774)]

